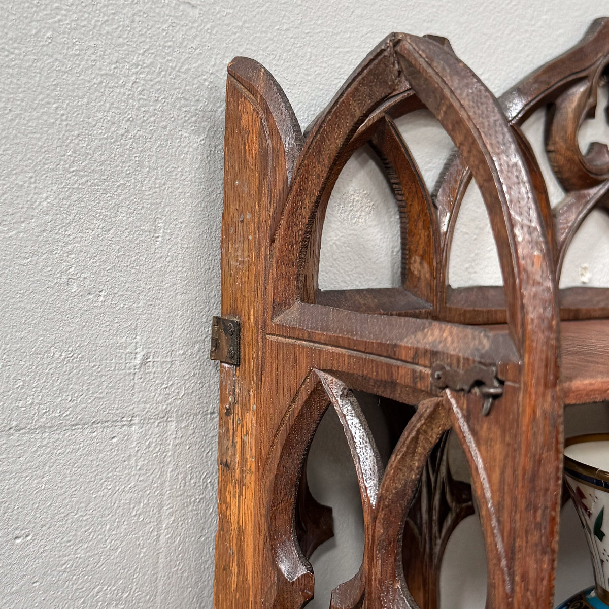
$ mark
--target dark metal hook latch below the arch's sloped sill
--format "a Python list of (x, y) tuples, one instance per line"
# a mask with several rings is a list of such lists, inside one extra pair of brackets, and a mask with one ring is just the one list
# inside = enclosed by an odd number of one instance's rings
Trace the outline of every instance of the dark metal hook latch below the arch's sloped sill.
[(493, 400), (503, 395), (503, 383), (497, 378), (495, 366), (472, 364), (465, 370), (459, 370), (436, 363), (431, 367), (431, 383), (436, 389), (465, 393), (476, 390), (484, 398), (482, 414), (485, 416), (490, 412)]

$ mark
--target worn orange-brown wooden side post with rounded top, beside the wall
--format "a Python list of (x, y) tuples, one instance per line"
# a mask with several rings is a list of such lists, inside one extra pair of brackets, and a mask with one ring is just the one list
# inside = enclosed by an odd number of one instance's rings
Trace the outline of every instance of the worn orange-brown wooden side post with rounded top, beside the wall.
[(269, 72), (245, 58), (234, 60), (228, 71), (222, 315), (241, 320), (241, 365), (220, 364), (214, 607), (244, 609), (252, 602), (259, 606), (259, 599), (252, 600), (256, 404), (264, 366), (269, 235), (281, 213), (301, 134)]

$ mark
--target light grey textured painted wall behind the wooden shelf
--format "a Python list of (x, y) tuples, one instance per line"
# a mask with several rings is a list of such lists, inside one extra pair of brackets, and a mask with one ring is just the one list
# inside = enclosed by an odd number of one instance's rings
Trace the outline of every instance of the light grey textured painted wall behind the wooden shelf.
[[(305, 126), (392, 30), (446, 35), (501, 93), (609, 7), (4, 0), (1, 8), (0, 607), (211, 607), (217, 365), (207, 354), (219, 310), (225, 66), (234, 55), (259, 60)], [(448, 139), (424, 116), (401, 126), (431, 178)], [(395, 211), (375, 171), (362, 153), (337, 185), (326, 287), (395, 282)], [(463, 210), (454, 284), (498, 281), (476, 205), (472, 196)], [(379, 239), (385, 230), (392, 236)], [(607, 218), (594, 216), (586, 231), (566, 276), (607, 283), (598, 261), (609, 254)], [(339, 525), (337, 541), (314, 557), (315, 607), (327, 607), (327, 590), (353, 574), (361, 552), (335, 423), (324, 421), (311, 465)], [(464, 592), (453, 568), (479, 556), (476, 523), (464, 526), (445, 569), (446, 607), (484, 598), (483, 577)]]

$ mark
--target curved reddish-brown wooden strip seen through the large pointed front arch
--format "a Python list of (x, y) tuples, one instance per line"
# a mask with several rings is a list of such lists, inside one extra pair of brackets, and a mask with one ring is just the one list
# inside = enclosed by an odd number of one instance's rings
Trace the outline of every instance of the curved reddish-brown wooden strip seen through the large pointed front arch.
[(400, 210), (402, 285), (435, 304), (440, 236), (427, 186), (392, 119), (379, 121), (371, 146), (385, 166)]

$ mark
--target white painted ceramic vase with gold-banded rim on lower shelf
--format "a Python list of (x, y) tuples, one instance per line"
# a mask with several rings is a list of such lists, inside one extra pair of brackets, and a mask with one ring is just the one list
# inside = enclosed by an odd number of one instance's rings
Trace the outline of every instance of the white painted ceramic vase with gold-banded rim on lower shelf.
[(565, 483), (586, 533), (596, 585), (558, 609), (608, 609), (609, 434), (578, 435), (565, 442)]

